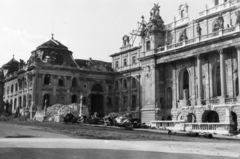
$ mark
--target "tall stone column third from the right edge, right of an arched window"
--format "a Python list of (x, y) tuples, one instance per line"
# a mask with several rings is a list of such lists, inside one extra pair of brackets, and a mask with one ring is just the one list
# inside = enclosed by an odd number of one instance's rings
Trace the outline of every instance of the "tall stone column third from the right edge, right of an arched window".
[(202, 59), (200, 55), (197, 56), (198, 66), (198, 105), (202, 105)]

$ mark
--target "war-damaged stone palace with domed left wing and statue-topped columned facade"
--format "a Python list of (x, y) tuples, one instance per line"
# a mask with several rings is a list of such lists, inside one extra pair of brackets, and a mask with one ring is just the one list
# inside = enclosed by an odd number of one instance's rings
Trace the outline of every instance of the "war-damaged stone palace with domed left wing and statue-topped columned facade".
[[(112, 63), (74, 59), (54, 38), (32, 51), (27, 63), (2, 66), (2, 111), (36, 112), (82, 102), (89, 113), (131, 113), (151, 121), (186, 121), (240, 126), (240, 0), (212, 0), (194, 20), (179, 6), (169, 24), (154, 4), (142, 17), (141, 45), (128, 35)], [(6, 106), (7, 105), (7, 106)]]

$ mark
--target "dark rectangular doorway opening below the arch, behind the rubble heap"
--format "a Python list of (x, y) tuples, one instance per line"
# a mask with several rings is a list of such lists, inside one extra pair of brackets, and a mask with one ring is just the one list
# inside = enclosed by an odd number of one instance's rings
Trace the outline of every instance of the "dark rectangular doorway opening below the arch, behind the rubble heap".
[(95, 112), (97, 112), (99, 116), (104, 115), (103, 95), (101, 94), (93, 94), (91, 96), (91, 114), (93, 115)]

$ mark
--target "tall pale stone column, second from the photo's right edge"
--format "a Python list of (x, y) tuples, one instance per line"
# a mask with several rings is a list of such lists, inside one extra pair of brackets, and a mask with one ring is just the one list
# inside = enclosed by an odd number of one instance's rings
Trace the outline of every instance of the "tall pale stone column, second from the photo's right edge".
[(225, 55), (223, 49), (218, 50), (220, 54), (220, 70), (221, 70), (221, 98), (220, 103), (225, 103), (226, 97), (226, 71), (225, 71)]

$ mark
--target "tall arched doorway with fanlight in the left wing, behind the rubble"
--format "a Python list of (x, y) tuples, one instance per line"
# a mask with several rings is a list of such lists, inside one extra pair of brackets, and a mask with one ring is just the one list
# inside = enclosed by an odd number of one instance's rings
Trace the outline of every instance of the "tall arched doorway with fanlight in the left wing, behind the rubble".
[(103, 99), (103, 88), (100, 84), (95, 84), (92, 87), (91, 94), (91, 114), (95, 112), (98, 113), (99, 116), (104, 115), (104, 99)]

